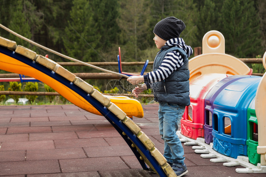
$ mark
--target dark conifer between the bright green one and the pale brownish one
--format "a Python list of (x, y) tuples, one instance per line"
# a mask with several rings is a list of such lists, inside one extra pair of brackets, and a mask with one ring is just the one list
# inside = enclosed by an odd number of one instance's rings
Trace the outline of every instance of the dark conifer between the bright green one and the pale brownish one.
[[(117, 23), (119, 16), (118, 0), (91, 0), (90, 1), (93, 13), (94, 28), (97, 34), (101, 37), (98, 39), (100, 42), (96, 46), (97, 52), (101, 57), (101, 62), (117, 61), (118, 54), (118, 41), (120, 28)], [(114, 67), (110, 70), (117, 71)]]

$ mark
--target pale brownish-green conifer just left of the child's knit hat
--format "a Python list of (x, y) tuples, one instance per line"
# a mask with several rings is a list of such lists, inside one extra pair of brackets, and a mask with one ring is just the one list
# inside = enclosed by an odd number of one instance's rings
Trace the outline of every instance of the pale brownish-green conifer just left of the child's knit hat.
[[(149, 30), (149, 4), (145, 0), (120, 1), (120, 17), (118, 25), (121, 29), (121, 42), (127, 51), (124, 58), (132, 56), (139, 61), (139, 52), (147, 48), (146, 36)], [(152, 40), (152, 39), (151, 39)], [(132, 60), (131, 59), (131, 60)]]

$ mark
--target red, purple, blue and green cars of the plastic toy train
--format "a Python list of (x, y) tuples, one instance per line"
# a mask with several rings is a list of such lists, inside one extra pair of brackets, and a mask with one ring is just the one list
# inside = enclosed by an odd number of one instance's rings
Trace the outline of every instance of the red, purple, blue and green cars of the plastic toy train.
[[(193, 81), (208, 81), (211, 86), (224, 74), (208, 74)], [(191, 105), (181, 120), (181, 133), (189, 138), (204, 137), (213, 142), (213, 149), (226, 156), (248, 156), (253, 164), (260, 162), (257, 154), (258, 122), (255, 114), (255, 94), (261, 77), (232, 75), (219, 80), (210, 90), (201, 87), (198, 97), (191, 97)], [(200, 82), (204, 83), (204, 82)], [(206, 95), (205, 99), (204, 94)], [(194, 95), (193, 95), (194, 96)], [(188, 109), (192, 110), (192, 118)], [(198, 115), (196, 115), (198, 114)], [(201, 114), (201, 115), (199, 115)]]

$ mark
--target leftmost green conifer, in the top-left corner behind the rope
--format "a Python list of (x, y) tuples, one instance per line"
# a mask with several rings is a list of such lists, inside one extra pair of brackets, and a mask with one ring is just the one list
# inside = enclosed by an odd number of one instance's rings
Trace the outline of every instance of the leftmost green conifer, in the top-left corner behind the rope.
[[(40, 31), (43, 24), (43, 14), (37, 10), (34, 3), (30, 0), (10, 0), (1, 1), (1, 23), (14, 32), (35, 40), (34, 35)], [(28, 47), (37, 52), (37, 48), (28, 42), (15, 37), (11, 33), (2, 32), (3, 37), (15, 40), (17, 44)]]

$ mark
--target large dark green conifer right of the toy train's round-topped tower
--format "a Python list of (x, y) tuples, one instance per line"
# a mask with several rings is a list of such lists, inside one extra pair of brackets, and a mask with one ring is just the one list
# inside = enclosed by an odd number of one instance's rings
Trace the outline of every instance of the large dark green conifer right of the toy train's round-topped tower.
[(262, 50), (260, 24), (252, 0), (225, 0), (221, 9), (220, 32), (225, 51), (239, 58), (252, 58)]

